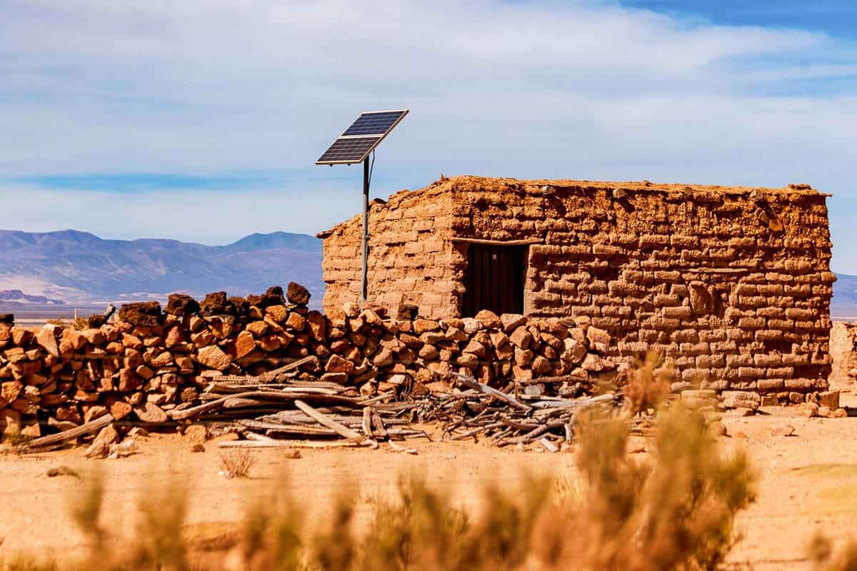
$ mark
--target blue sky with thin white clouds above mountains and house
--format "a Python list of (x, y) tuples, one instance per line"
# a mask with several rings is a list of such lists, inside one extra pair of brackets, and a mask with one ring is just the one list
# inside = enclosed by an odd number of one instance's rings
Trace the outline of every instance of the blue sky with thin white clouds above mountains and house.
[(316, 167), (408, 107), (373, 193), (440, 173), (781, 187), (857, 274), (857, 3), (0, 0), (0, 228), (227, 243), (357, 212)]

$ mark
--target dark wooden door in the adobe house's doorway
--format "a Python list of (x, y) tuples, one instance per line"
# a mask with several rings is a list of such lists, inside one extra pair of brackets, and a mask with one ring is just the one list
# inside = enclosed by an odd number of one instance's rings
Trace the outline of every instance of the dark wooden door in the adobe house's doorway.
[(524, 312), (525, 246), (470, 244), (464, 272), (462, 316), (482, 309), (501, 313)]

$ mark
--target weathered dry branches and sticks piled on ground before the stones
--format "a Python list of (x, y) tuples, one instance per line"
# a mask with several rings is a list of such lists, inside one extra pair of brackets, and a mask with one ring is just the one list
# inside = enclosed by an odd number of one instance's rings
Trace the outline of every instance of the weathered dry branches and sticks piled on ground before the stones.
[[(387, 442), (391, 448), (416, 454), (395, 441), (429, 438), (417, 423), (442, 425), (442, 440), (488, 438), (497, 446), (532, 443), (551, 452), (571, 442), (578, 414), (596, 406), (614, 406), (617, 396), (602, 395), (576, 400), (559, 396), (514, 396), (460, 373), (451, 378), (458, 390), (423, 391), (396, 401), (390, 391), (361, 396), (354, 387), (301, 372), (308, 357), (260, 376), (222, 375), (212, 379), (200, 395), (200, 404), (177, 407), (162, 423), (148, 428), (189, 423), (226, 425), (242, 436), (219, 443), (221, 447), (291, 447), (296, 440), (321, 440), (317, 446), (369, 446)], [(56, 448), (110, 424), (106, 415), (73, 431), (38, 438), (30, 448)]]

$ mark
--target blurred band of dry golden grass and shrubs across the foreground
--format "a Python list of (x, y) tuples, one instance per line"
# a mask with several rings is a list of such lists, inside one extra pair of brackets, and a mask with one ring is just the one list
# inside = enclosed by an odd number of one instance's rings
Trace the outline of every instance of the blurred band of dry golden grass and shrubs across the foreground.
[[(745, 456), (723, 455), (703, 419), (683, 408), (659, 415), (649, 458), (626, 452), (628, 432), (618, 418), (582, 422), (578, 479), (510, 474), (522, 482), (518, 489), (483, 485), (471, 492), (482, 497), (481, 507), (466, 512), (414, 475), (400, 479), (398, 497), (370, 503), (357, 486), (343, 485), (321, 519), (272, 490), (270, 500), (248, 510), (237, 533), (207, 547), (186, 537), (188, 490), (175, 483), (144, 487), (133, 537), (108, 536), (99, 523), (104, 485), (95, 476), (73, 507), (89, 538), (87, 560), (10, 560), (0, 569), (716, 568), (734, 542), (734, 514), (752, 501)], [(249, 469), (248, 458), (240, 464)]]

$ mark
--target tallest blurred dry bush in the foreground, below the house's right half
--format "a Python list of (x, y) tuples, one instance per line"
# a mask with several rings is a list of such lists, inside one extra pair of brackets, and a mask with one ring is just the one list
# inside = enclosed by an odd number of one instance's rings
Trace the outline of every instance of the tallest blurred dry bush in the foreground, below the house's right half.
[(574, 514), (580, 568), (713, 569), (734, 542), (734, 515), (753, 499), (746, 455), (722, 455), (704, 419), (680, 404), (660, 413), (651, 461), (626, 454), (627, 425), (584, 425), (578, 465), (588, 485)]

